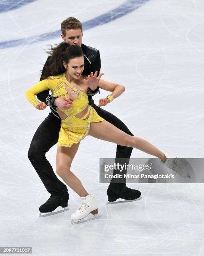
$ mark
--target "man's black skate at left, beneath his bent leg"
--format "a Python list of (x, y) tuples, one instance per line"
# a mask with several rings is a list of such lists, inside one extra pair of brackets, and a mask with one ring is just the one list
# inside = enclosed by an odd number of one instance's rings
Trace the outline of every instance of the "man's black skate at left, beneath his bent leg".
[[(40, 206), (39, 217), (50, 216), (50, 215), (54, 215), (54, 214), (69, 210), (69, 208), (67, 208), (68, 200), (69, 200), (68, 193), (63, 198), (51, 195), (51, 197), (47, 200), (47, 202), (45, 202), (43, 205)], [(53, 212), (59, 206), (64, 207), (64, 209)], [(42, 213), (47, 213), (47, 214), (42, 214)]]

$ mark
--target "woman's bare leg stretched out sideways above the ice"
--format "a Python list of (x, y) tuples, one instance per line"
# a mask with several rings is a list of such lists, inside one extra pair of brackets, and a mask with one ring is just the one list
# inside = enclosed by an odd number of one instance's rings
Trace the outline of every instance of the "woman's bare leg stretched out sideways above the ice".
[(147, 154), (157, 156), (162, 161), (166, 161), (165, 154), (151, 143), (142, 138), (130, 136), (107, 121), (91, 123), (89, 135), (118, 145), (137, 148)]

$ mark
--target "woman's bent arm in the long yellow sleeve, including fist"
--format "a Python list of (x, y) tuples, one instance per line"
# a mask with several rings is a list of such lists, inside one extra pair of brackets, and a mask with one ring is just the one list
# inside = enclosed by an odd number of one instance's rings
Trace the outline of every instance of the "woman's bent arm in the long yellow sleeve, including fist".
[[(50, 86), (49, 86), (49, 82), (48, 79), (44, 79), (40, 82), (38, 82), (37, 84), (35, 84), (32, 88), (30, 88), (29, 90), (27, 90), (25, 92), (25, 96), (27, 97), (27, 100), (37, 109), (42, 109), (42, 107), (40, 108), (40, 106), (44, 103), (40, 103), (35, 95), (37, 95), (39, 92), (43, 92), (45, 90), (50, 90)], [(40, 105), (41, 104), (41, 105)], [(44, 103), (45, 104), (45, 103)], [(39, 108), (38, 108), (39, 107)], [(44, 108), (43, 108), (44, 109)]]

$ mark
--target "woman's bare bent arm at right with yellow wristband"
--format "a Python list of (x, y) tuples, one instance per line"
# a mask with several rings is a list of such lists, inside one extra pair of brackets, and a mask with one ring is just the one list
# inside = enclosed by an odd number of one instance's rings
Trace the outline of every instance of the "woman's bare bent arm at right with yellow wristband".
[(98, 85), (99, 85), (99, 88), (106, 90), (108, 92), (112, 92), (105, 99), (99, 100), (99, 105), (98, 105), (99, 107), (107, 105), (108, 103), (113, 101), (113, 99), (122, 95), (122, 93), (125, 91), (125, 87), (123, 85), (107, 82), (102, 79), (100, 79)]

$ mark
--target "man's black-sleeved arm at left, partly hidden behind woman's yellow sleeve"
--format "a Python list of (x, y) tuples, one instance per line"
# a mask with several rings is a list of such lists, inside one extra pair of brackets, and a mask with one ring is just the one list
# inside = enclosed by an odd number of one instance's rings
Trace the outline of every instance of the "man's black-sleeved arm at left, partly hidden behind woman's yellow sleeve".
[[(47, 71), (47, 69), (49, 69), (50, 67), (50, 56), (47, 58), (46, 62), (45, 62), (45, 65), (43, 66), (43, 69), (42, 69), (42, 74), (41, 74), (41, 77), (40, 77), (40, 81), (42, 79), (45, 79), (43, 78), (43, 76), (45, 75), (45, 71)], [(42, 101), (42, 102), (45, 102), (47, 106), (49, 107), (55, 107), (53, 104), (54, 104), (54, 101), (57, 99), (56, 97), (53, 97), (49, 94), (49, 90), (46, 90), (46, 91), (43, 91), (43, 92), (40, 92), (38, 93), (37, 95), (37, 98), (38, 100)]]

